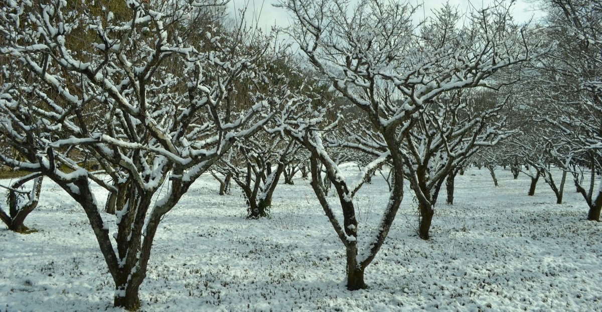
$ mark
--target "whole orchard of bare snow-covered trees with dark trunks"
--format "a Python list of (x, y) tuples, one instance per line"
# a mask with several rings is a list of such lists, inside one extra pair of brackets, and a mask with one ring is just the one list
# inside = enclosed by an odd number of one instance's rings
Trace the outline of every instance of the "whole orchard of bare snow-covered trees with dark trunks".
[[(597, 220), (602, 196), (592, 197), (593, 182), (584, 189), (576, 168), (590, 168), (592, 181), (600, 172), (600, 5), (546, 3), (562, 32), (516, 25), (503, 3), (465, 15), (446, 5), (414, 25), (410, 4), (281, 0), (294, 16), (283, 31), (298, 57), (225, 23), (220, 0), (3, 0), (0, 160), (31, 173), (8, 186), (9, 213), (0, 216), (25, 231), (42, 178), (54, 181), (84, 209), (113, 276), (114, 305), (129, 310), (140, 306), (161, 219), (205, 172), (220, 193), (234, 181), (256, 218), (267, 215), (280, 176), (293, 183), (307, 165), (346, 249), (350, 290), (365, 288), (406, 180), (418, 234), (429, 239), (443, 182), (451, 204), (455, 175), (479, 158), (493, 175), (507, 161), (492, 157), (500, 148), (513, 151), (503, 153), (514, 157), (510, 166), (530, 164), (537, 176), (548, 176), (540, 164), (570, 172)], [(560, 40), (582, 47), (579, 55), (563, 57), (572, 50), (557, 48), (566, 46)], [(523, 86), (525, 77), (541, 81)], [(517, 126), (525, 111), (539, 112), (529, 116), (538, 129)], [(547, 158), (533, 152), (539, 146)], [(339, 169), (349, 160), (361, 166), (358, 179)], [(385, 164), (389, 201), (376, 231), (362, 234), (354, 195)], [(106, 207), (91, 183), (109, 191)], [(158, 192), (164, 184), (169, 192)], [(327, 200), (331, 188), (337, 205)]]

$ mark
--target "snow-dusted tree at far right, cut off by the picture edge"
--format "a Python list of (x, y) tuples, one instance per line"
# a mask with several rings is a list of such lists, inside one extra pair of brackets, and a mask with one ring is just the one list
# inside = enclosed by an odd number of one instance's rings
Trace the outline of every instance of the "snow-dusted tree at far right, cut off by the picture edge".
[[(530, 107), (544, 123), (542, 142), (549, 157), (573, 175), (589, 207), (588, 219), (602, 210), (602, 5), (599, 1), (547, 0), (545, 40), (557, 40), (553, 53), (532, 69), (524, 86), (539, 101)], [(534, 151), (536, 152), (536, 151)], [(591, 172), (583, 183), (582, 169)], [(589, 184), (589, 185), (588, 185)]]

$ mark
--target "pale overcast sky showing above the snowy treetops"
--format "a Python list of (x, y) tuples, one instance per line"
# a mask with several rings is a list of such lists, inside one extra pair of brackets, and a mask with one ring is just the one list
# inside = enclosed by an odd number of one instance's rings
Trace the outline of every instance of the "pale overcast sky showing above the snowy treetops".
[[(357, 0), (352, 0), (352, 2)], [(420, 8), (416, 13), (416, 20), (423, 19), (423, 16), (429, 16), (433, 8), (441, 7), (445, 1), (442, 0), (411, 0), (412, 3), (424, 3), (424, 6)], [(457, 5), (460, 11), (467, 11), (468, 8), (473, 5), (474, 7), (480, 8), (493, 2), (492, 0), (449, 0), (450, 4)], [(541, 11), (536, 10), (534, 6), (536, 4), (530, 3), (533, 0), (517, 0), (514, 5), (514, 17), (517, 22), (526, 22), (531, 17), (541, 17)], [(231, 0), (229, 10), (234, 12), (240, 8), (243, 8), (246, 4), (249, 4), (247, 9), (247, 19), (249, 17), (259, 17), (259, 27), (268, 30), (273, 25), (287, 26), (289, 23), (289, 16), (287, 11), (282, 8), (273, 7), (273, 3), (276, 0)], [(253, 19), (255, 20), (255, 19)]]

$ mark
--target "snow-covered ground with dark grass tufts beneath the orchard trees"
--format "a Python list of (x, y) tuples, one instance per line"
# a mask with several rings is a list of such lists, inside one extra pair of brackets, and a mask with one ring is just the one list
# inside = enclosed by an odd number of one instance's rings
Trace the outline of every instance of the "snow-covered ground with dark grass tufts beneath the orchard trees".
[[(497, 175), (497, 188), (486, 169), (459, 175), (453, 206), (442, 190), (428, 242), (408, 190), (357, 292), (308, 181), (279, 185), (272, 218), (247, 220), (237, 189), (219, 196), (203, 175), (160, 225), (141, 310), (602, 311), (602, 224), (585, 220), (581, 195), (567, 183), (556, 205), (542, 179), (527, 196), (525, 175)], [(356, 195), (360, 243), (387, 193), (375, 177)], [(84, 211), (51, 181), (26, 225), (39, 232), (0, 229), (0, 311), (120, 311)]]

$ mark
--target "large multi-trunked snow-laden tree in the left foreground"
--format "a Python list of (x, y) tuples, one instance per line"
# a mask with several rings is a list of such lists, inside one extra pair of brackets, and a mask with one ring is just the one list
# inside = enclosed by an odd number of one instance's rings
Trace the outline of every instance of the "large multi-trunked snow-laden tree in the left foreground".
[[(0, 160), (42, 173), (84, 208), (113, 277), (114, 305), (135, 310), (161, 219), (290, 99), (253, 89), (269, 80), (255, 66), (268, 43), (211, 27), (218, 17), (203, 8), (222, 1), (125, 4), (114, 14), (63, 0), (2, 1), (0, 53), (23, 70), (8, 72), (0, 95), (0, 127), (20, 157)], [(82, 33), (92, 48), (76, 48)], [(229, 101), (240, 80), (251, 82), (244, 104)], [(82, 157), (101, 170), (88, 170)], [(92, 181), (119, 193), (116, 228)], [(155, 201), (164, 184), (169, 191)]]

